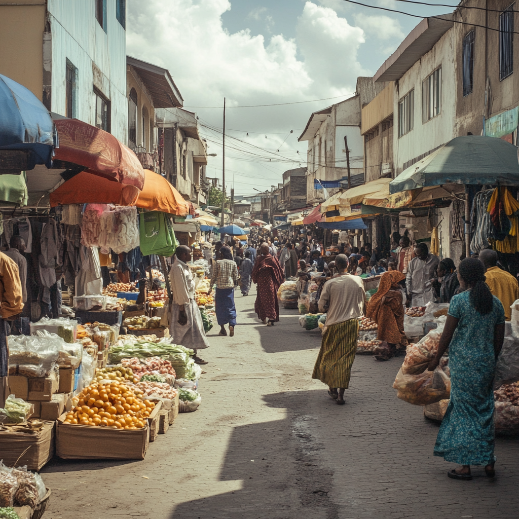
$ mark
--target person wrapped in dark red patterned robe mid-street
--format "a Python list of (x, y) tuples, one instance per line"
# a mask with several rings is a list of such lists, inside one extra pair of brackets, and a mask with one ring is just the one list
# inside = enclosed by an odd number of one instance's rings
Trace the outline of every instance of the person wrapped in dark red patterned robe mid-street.
[(252, 270), (252, 281), (257, 285), (254, 311), (263, 324), (272, 326), (279, 321), (278, 289), (283, 282), (283, 270), (278, 258), (269, 252), (268, 243), (262, 243), (260, 255)]

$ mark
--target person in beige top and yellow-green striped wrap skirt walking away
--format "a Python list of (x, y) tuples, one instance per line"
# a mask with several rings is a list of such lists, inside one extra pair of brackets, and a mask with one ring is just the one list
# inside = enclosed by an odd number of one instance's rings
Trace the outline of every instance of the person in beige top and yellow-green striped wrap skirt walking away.
[(344, 390), (350, 381), (355, 359), (358, 318), (363, 315), (365, 292), (362, 278), (346, 272), (348, 258), (335, 258), (338, 275), (325, 282), (319, 298), (319, 311), (326, 312), (326, 326), (312, 378), (329, 386), (328, 394), (344, 404)]

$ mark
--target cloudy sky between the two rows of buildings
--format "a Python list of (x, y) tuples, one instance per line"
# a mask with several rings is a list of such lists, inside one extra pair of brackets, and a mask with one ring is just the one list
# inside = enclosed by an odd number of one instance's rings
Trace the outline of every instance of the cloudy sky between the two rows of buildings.
[(370, 7), (346, 0), (129, 0), (127, 53), (170, 71), (185, 109), (198, 116), (208, 153), (216, 153), (206, 174), (218, 179), (226, 98), (226, 191), (251, 195), (306, 166), (308, 144), (297, 138), (311, 113), (350, 97), (357, 77), (372, 76), (420, 21), (381, 7), (420, 17), (454, 10), (359, 2)]

